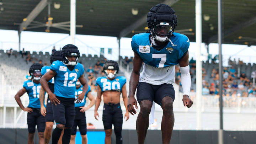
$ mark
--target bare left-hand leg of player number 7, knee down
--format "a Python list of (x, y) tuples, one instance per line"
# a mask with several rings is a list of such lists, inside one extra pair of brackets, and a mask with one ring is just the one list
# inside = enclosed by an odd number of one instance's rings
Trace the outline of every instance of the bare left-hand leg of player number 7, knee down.
[(138, 135), (138, 144), (144, 144), (146, 132), (149, 127), (149, 114), (152, 107), (152, 102), (143, 100), (140, 102), (140, 112), (136, 121), (136, 130)]

